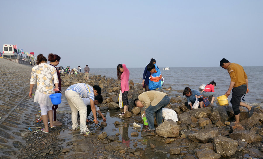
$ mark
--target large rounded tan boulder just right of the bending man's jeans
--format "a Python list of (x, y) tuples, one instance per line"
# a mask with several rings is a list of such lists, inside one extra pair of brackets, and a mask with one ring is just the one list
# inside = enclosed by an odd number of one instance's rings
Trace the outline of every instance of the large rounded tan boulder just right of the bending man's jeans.
[(165, 138), (167, 137), (178, 137), (179, 136), (179, 126), (177, 122), (173, 120), (165, 120), (160, 126), (156, 128), (156, 133)]

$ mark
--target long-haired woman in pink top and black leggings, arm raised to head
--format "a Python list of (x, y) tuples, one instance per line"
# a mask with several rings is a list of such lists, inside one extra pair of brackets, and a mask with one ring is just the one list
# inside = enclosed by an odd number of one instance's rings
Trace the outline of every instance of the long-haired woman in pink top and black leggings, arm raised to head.
[(122, 102), (124, 105), (124, 110), (119, 115), (123, 116), (126, 111), (128, 111), (129, 101), (128, 101), (128, 91), (129, 91), (129, 77), (130, 71), (125, 64), (117, 65), (117, 77), (120, 80), (121, 91), (122, 91)]

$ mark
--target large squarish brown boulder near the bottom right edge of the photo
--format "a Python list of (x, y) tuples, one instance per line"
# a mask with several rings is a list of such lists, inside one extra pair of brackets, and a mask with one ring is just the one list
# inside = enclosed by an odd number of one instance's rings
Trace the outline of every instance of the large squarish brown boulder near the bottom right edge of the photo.
[(238, 141), (225, 136), (217, 136), (214, 138), (214, 150), (219, 155), (231, 156), (236, 153), (237, 146)]

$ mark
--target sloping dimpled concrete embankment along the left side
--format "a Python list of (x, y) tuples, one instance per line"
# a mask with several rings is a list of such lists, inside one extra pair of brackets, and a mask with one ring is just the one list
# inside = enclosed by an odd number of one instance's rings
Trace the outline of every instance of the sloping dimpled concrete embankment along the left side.
[(0, 156), (16, 158), (25, 145), (21, 132), (32, 125), (38, 110), (28, 104), (33, 103), (28, 97), (32, 66), (0, 58), (0, 68)]

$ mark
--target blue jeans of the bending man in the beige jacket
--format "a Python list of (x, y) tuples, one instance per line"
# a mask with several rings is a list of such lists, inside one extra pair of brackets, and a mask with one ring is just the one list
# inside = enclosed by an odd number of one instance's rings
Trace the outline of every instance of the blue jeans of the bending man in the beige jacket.
[(154, 127), (154, 116), (153, 113), (156, 113), (156, 122), (158, 125), (162, 124), (162, 108), (167, 106), (170, 103), (170, 98), (165, 96), (156, 106), (148, 106), (146, 108), (146, 119), (149, 125), (149, 130), (155, 130)]

